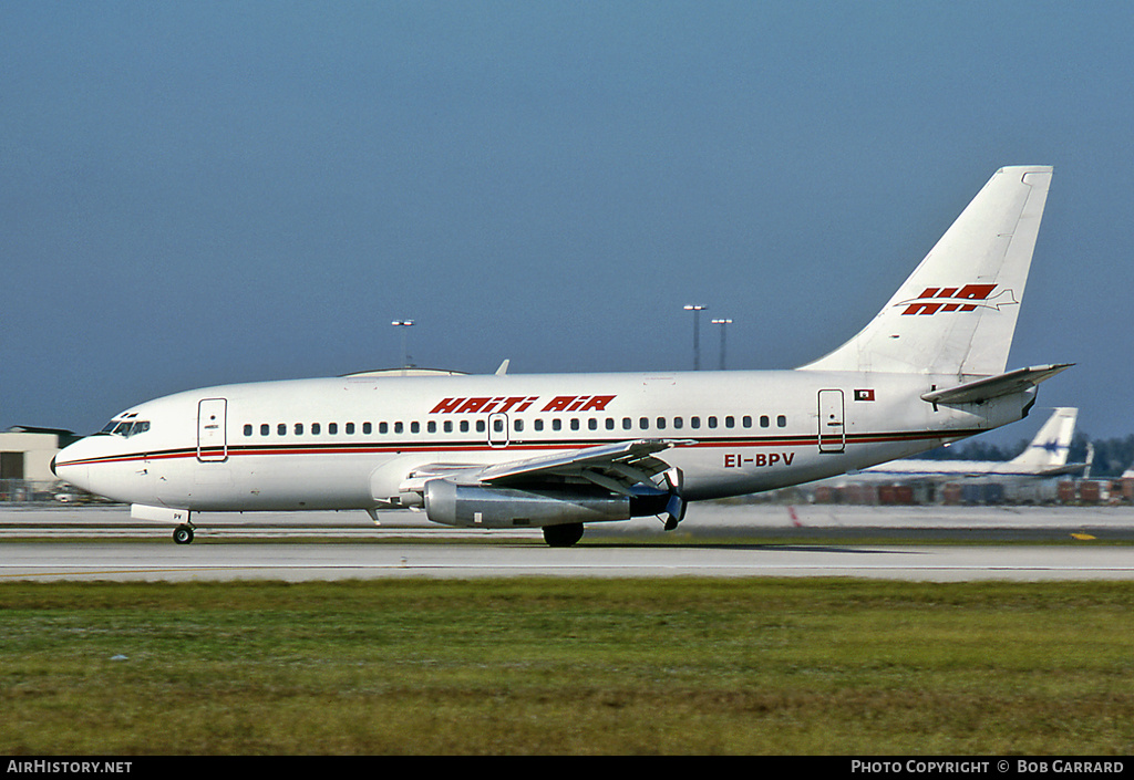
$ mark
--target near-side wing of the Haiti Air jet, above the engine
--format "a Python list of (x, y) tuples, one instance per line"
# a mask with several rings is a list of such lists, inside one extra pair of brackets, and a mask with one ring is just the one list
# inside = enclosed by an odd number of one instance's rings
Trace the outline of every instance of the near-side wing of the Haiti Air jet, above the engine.
[(691, 443), (692, 440), (634, 439), (490, 466), (430, 464), (414, 469), (409, 482), (424, 483), (430, 478), (445, 477), (466, 485), (535, 488), (581, 478), (629, 495), (631, 488), (637, 484), (657, 488), (652, 478), (670, 468), (668, 463), (654, 457), (655, 453)]

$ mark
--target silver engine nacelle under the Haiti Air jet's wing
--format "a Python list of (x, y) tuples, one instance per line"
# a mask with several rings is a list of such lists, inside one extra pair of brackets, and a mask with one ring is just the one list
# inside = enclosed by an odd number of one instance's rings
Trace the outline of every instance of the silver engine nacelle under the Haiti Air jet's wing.
[(665, 491), (627, 497), (585, 485), (531, 491), (430, 480), (425, 483), (425, 515), (442, 525), (542, 527), (655, 515), (665, 509), (668, 498)]

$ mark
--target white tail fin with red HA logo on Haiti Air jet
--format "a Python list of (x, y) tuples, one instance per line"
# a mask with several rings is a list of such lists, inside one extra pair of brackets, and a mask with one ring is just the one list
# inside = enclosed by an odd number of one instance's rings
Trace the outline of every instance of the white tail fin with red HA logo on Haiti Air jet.
[(1052, 169), (998, 170), (857, 336), (814, 371), (1000, 374)]

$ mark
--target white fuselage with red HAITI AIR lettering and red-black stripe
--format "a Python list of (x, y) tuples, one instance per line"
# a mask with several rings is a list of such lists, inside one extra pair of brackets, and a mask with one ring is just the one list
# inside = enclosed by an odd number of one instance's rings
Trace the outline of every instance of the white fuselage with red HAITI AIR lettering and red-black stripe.
[[(979, 407), (921, 395), (957, 378), (815, 371), (346, 376), (193, 390), (115, 419), (136, 433), (64, 450), (60, 478), (192, 511), (407, 506), (414, 469), (496, 464), (633, 439), (686, 500), (753, 493), (908, 456), (1019, 419), (1034, 390)], [(108, 426), (110, 427), (110, 426)]]

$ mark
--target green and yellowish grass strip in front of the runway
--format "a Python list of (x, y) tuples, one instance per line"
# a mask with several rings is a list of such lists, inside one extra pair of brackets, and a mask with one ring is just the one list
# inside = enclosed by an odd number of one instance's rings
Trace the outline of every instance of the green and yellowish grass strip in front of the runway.
[(1134, 584), (0, 584), (0, 754), (1134, 753)]

